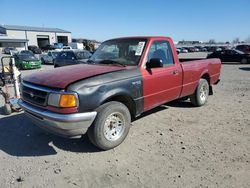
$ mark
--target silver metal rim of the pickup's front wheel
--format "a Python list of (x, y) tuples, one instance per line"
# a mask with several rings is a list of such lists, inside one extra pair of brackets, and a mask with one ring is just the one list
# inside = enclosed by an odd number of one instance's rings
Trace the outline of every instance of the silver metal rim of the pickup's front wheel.
[(104, 136), (109, 141), (118, 140), (125, 129), (125, 118), (119, 112), (110, 114), (104, 123)]

